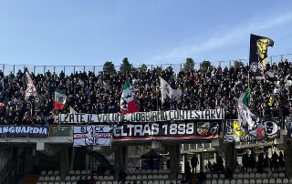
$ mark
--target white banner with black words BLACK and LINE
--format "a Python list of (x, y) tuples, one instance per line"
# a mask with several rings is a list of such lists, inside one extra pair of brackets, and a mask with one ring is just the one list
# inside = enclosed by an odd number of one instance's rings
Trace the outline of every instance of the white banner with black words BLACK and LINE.
[(110, 126), (84, 126), (74, 127), (73, 146), (83, 147), (90, 145), (110, 146)]

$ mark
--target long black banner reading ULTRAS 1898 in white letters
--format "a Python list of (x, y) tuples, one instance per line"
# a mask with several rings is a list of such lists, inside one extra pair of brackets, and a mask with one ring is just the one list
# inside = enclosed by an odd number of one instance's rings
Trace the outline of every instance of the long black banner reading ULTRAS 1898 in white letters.
[(144, 140), (144, 139), (173, 139), (173, 138), (217, 138), (219, 123), (146, 123), (115, 125), (113, 139)]

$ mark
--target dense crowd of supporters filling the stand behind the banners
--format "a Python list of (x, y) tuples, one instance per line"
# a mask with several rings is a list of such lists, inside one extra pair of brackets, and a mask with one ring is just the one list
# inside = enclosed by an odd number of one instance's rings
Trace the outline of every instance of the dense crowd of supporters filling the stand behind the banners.
[[(130, 72), (114, 74), (76, 72), (68, 76), (63, 71), (58, 75), (50, 71), (45, 75), (30, 73), (38, 97), (29, 97), (28, 100), (25, 100), (24, 72), (19, 70), (16, 75), (10, 73), (5, 76), (0, 71), (0, 102), (5, 105), (0, 107), (0, 124), (50, 124), (54, 121), (53, 114), (68, 113), (69, 107), (77, 112), (92, 114), (120, 112), (120, 96), (126, 79), (130, 79), (137, 90), (141, 111), (224, 107), (225, 118), (237, 118), (234, 97), (239, 97), (249, 88), (251, 95), (248, 107), (259, 116), (292, 116), (289, 101), (292, 92), (291, 86), (287, 85), (287, 81), (291, 80), (291, 62), (285, 60), (272, 66), (267, 64), (266, 71), (275, 73), (275, 77), (249, 76), (248, 66), (208, 66), (182, 70), (176, 74), (171, 68), (146, 72), (134, 68)], [(172, 88), (183, 91), (179, 101), (167, 100), (161, 103), (159, 77), (165, 79)], [(67, 91), (66, 106), (60, 111), (53, 110), (56, 89)]]

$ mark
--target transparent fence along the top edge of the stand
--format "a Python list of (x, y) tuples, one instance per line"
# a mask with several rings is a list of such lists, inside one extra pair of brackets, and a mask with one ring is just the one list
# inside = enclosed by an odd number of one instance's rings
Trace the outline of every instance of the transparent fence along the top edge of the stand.
[[(270, 63), (271, 65), (273, 63), (278, 63), (281, 60), (287, 59), (288, 61), (292, 61), (292, 54), (286, 54), (286, 55), (278, 55), (278, 56), (268, 56), (266, 58), (266, 63)], [(231, 67), (235, 66), (235, 62), (241, 62), (245, 66), (248, 65), (249, 61), (248, 59), (237, 59), (237, 60), (229, 60), (229, 61), (215, 61), (210, 62), (211, 66), (221, 66), (224, 67)], [(194, 62), (193, 68), (199, 69), (202, 62)], [(160, 67), (161, 69), (166, 69), (168, 67), (172, 67), (173, 71), (175, 73), (181, 71), (185, 64), (161, 64), (161, 65), (146, 65), (147, 69), (153, 70), (154, 68)], [(48, 70), (53, 73), (59, 74), (61, 71), (63, 71), (66, 75), (69, 75), (71, 73), (75, 72), (93, 72), (95, 74), (98, 74), (99, 72), (103, 71), (103, 66), (31, 66), (31, 65), (10, 65), (10, 64), (0, 64), (0, 69), (4, 72), (5, 76), (8, 76), (10, 72), (13, 74), (16, 74), (18, 70), (24, 71), (25, 68), (28, 68), (29, 71), (33, 71), (34, 74), (45, 74)], [(137, 68), (137, 67), (136, 67)], [(115, 69), (117, 71), (120, 70), (120, 66), (115, 66)]]

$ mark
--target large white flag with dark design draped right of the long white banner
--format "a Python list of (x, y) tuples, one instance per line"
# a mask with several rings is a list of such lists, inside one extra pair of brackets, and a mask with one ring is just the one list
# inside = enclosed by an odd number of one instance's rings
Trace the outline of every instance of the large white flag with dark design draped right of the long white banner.
[(238, 124), (237, 131), (245, 131), (245, 135), (263, 138), (260, 118), (255, 115), (245, 104), (237, 99)]

